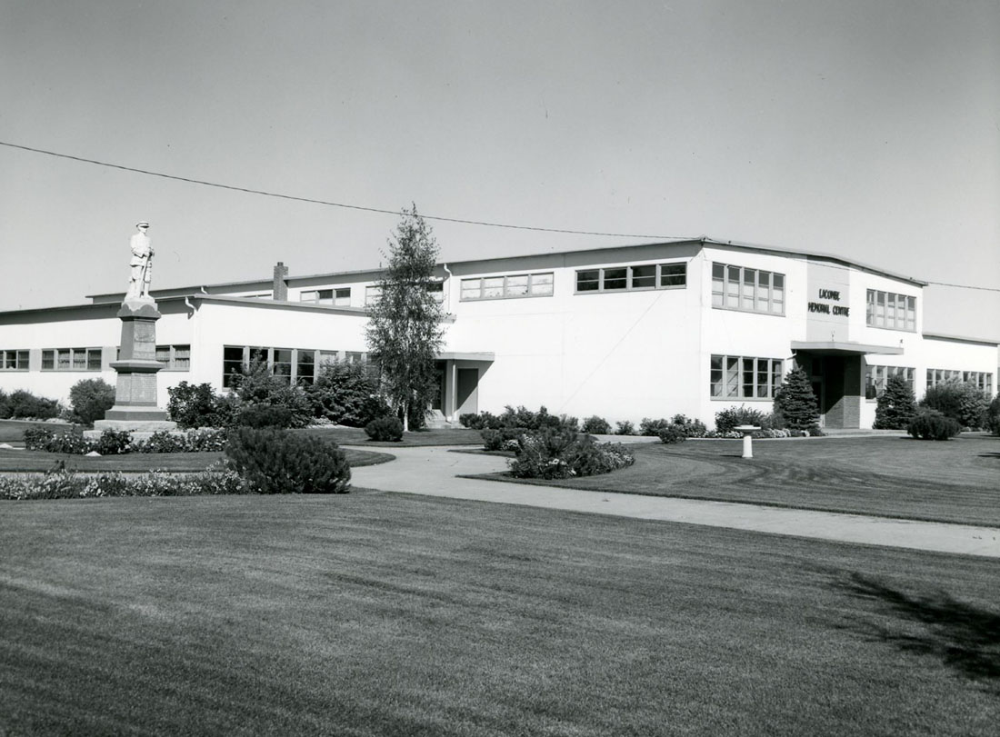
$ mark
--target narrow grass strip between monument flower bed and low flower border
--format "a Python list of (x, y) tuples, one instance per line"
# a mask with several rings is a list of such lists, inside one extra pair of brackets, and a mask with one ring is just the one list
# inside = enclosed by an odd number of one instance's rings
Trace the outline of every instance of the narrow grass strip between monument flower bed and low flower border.
[[(372, 466), (391, 461), (389, 453), (344, 448), (352, 467)], [(0, 473), (45, 472), (65, 464), (67, 471), (172, 471), (193, 473), (204, 471), (225, 458), (225, 453), (126, 453), (124, 455), (89, 458), (67, 453), (43, 453), (27, 450), (0, 450)]]

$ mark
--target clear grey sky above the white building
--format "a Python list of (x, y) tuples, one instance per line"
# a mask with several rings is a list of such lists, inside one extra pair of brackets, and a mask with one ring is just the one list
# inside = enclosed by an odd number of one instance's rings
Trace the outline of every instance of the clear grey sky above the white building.
[[(977, 289), (925, 329), (1000, 339), (1000, 3), (0, 0), (0, 310), (709, 236)], [(992, 291), (990, 291), (992, 290)]]

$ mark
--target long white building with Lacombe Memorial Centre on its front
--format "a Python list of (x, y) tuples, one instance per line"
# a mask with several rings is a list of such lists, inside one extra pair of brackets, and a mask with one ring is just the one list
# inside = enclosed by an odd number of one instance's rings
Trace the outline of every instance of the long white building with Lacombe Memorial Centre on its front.
[[(257, 352), (311, 381), (366, 359), (377, 271), (154, 290), (159, 403), (181, 381), (224, 388)], [(919, 398), (958, 378), (992, 395), (997, 343), (923, 332), (925, 283), (836, 256), (709, 239), (441, 264), (440, 354), (448, 420), (504, 405), (611, 422), (682, 413), (713, 425), (745, 404), (769, 412), (793, 362), (827, 427), (871, 427), (892, 373)], [(122, 294), (0, 313), (0, 389), (64, 401), (83, 378), (114, 383)]]

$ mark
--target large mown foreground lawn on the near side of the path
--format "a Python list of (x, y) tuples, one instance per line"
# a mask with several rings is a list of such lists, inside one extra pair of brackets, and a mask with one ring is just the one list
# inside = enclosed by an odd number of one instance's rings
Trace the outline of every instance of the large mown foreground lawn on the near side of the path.
[(19, 502), (0, 733), (993, 735), (996, 562), (391, 494)]

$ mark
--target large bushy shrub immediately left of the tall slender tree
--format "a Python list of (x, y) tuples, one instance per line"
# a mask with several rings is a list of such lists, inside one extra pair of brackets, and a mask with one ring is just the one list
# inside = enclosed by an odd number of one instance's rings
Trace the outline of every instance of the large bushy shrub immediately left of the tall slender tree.
[(378, 393), (378, 376), (369, 365), (335, 361), (320, 368), (316, 381), (305, 387), (314, 417), (338, 425), (364, 427), (392, 410)]

